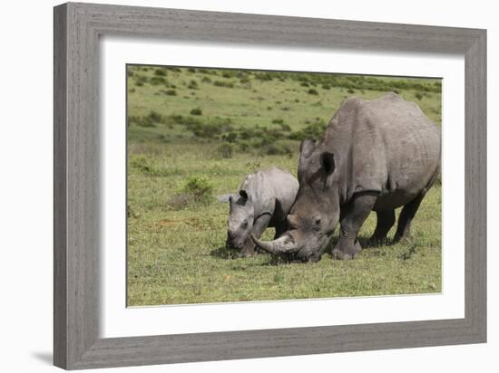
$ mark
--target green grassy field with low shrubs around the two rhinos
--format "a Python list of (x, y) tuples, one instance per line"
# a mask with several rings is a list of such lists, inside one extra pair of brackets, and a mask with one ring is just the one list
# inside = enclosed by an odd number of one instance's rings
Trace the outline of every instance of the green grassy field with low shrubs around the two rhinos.
[[(317, 139), (347, 97), (396, 91), (440, 124), (440, 81), (156, 66), (128, 66), (127, 75), (128, 305), (441, 291), (439, 185), (412, 241), (347, 262), (328, 253), (319, 263), (234, 259), (225, 249), (229, 207), (216, 201), (258, 168), (296, 175), (300, 139)], [(371, 214), (361, 242), (375, 225)]]

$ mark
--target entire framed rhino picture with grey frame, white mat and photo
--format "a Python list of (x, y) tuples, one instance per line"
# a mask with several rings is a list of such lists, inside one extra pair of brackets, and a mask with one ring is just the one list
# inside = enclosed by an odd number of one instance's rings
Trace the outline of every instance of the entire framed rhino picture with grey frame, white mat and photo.
[(486, 340), (484, 30), (54, 8), (54, 363)]

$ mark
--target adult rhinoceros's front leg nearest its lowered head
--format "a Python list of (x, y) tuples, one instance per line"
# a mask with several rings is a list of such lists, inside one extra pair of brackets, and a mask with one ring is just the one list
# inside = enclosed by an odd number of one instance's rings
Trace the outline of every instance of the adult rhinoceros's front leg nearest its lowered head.
[(377, 194), (365, 193), (355, 196), (347, 206), (342, 207), (339, 239), (332, 253), (334, 258), (354, 259), (362, 250), (357, 234), (375, 206), (376, 200)]

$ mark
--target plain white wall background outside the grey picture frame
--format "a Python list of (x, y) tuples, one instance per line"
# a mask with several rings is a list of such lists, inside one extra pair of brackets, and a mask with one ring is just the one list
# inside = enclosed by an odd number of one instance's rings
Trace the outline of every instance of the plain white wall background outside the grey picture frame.
[[(99, 1), (95, 1), (100, 3)], [(2, 371), (55, 371), (52, 367), (52, 6), (57, 2), (10, 1), (2, 4), (0, 22), (0, 343)], [(493, 1), (290, 1), (223, 0), (119, 1), (151, 5), (256, 14), (283, 14), (407, 24), (488, 29), (488, 190), (489, 190), (489, 342), (482, 345), (399, 349), (306, 357), (250, 359), (142, 368), (133, 372), (194, 371), (383, 371), (493, 372), (499, 362), (497, 323), (499, 281), (494, 228), (499, 209), (494, 195), (498, 180), (499, 98), (497, 77), (499, 24)], [(495, 141), (494, 141), (495, 140)], [(106, 371), (110, 371), (109, 369)]]

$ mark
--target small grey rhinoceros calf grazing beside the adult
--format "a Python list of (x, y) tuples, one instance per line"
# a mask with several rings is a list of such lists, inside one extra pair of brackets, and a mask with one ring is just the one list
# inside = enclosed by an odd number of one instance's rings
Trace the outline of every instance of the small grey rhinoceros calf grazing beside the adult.
[(249, 234), (259, 238), (269, 226), (276, 229), (275, 238), (286, 231), (286, 216), (295, 202), (298, 180), (278, 167), (249, 174), (233, 195), (219, 196), (229, 202), (227, 245), (240, 250), (241, 256), (255, 253)]

